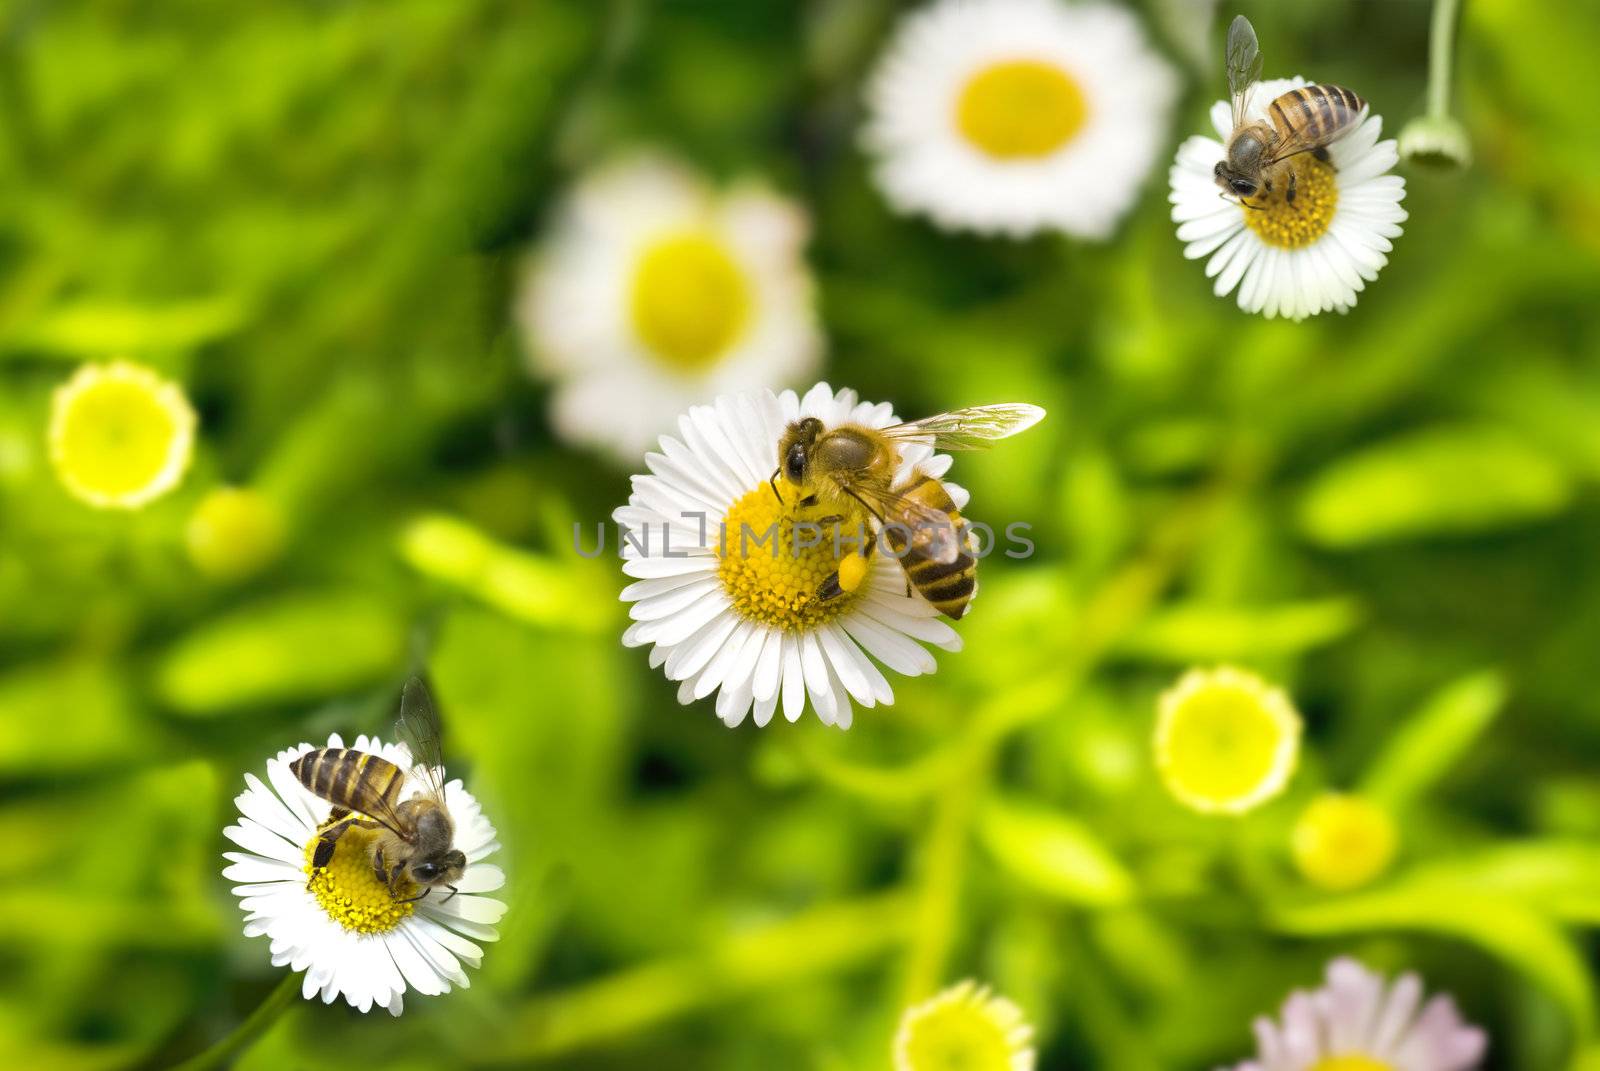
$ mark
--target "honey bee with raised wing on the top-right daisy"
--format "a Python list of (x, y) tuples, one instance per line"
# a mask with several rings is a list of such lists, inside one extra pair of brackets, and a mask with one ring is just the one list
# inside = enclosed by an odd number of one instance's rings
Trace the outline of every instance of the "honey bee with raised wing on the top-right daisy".
[(1267, 106), (1272, 122), (1245, 122), (1250, 91), (1261, 77), (1261, 45), (1243, 14), (1227, 30), (1227, 91), (1234, 96), (1234, 133), (1227, 155), (1216, 162), (1216, 184), (1224, 195), (1238, 197), (1246, 208), (1251, 197), (1270, 194), (1285, 184), (1283, 197), (1294, 203), (1291, 157), (1310, 152), (1328, 162), (1328, 146), (1355, 128), (1366, 101), (1339, 85), (1302, 85)]

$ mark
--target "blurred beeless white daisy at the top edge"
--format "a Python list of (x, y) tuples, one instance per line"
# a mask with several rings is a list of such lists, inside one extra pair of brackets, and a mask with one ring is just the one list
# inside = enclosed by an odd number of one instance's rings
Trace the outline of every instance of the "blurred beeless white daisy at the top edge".
[(1176, 93), (1122, 8), (939, 0), (880, 59), (862, 141), (899, 211), (950, 231), (1106, 239), (1162, 152)]

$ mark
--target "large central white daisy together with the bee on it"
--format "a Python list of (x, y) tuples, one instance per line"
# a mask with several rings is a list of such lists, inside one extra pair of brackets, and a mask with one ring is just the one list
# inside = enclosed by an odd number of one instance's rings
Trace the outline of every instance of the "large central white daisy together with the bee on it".
[[(992, 439), (1040, 416), (987, 407), (930, 419), (957, 439)], [(835, 447), (874, 479), (827, 485), (835, 477), (822, 471), (819, 443), (842, 426), (850, 442)], [(760, 391), (693, 407), (680, 437), (662, 435), (661, 451), (645, 456), (650, 472), (634, 477), (627, 506), (613, 514), (622, 572), (637, 581), (622, 591), (634, 604), (622, 642), (651, 647), (650, 664), (682, 682), (680, 703), (717, 693), (726, 725), (752, 709), (765, 725), (779, 703), (792, 722), (810, 698), (826, 724), (848, 728), (851, 703), (893, 703), (878, 663), (933, 672), (923, 644), (960, 650), (939, 615), (960, 616), (974, 594), (973, 549), (955, 546), (966, 491), (942, 482), (950, 456), (934, 453), (946, 432), (933, 426), (901, 424), (886, 402), (826, 383), (803, 399)], [(883, 523), (894, 515), (912, 519), (907, 531), (949, 523), (939, 541), (949, 554), (920, 536), (909, 549), (896, 544), (894, 525)], [(872, 552), (880, 535), (899, 549)]]

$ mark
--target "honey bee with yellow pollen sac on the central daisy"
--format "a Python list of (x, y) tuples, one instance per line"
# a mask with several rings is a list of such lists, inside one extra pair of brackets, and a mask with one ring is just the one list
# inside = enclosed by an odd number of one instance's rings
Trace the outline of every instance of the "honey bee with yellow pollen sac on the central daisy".
[[(978, 559), (970, 533), (946, 490), (933, 475), (914, 469), (896, 483), (901, 448), (926, 443), (934, 450), (982, 450), (1032, 427), (1045, 416), (1037, 405), (978, 405), (939, 413), (891, 427), (840, 424), (826, 427), (814, 416), (794, 421), (778, 443), (778, 469), (768, 480), (778, 491), (778, 474), (806, 491), (802, 506), (851, 509), (872, 515), (874, 538), (861, 540), (859, 552), (843, 559), (818, 588), (818, 599), (837, 599), (854, 591), (867, 575), (867, 559), (882, 535), (906, 572), (906, 594), (922, 592), (939, 613), (960, 620), (978, 588)], [(838, 523), (843, 514), (822, 517)]]

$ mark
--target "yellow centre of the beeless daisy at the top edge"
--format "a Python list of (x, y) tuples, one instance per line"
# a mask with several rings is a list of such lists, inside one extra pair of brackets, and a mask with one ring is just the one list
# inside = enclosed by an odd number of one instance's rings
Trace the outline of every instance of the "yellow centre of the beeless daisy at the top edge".
[(962, 88), (962, 134), (998, 160), (1048, 157), (1088, 118), (1083, 90), (1061, 67), (1011, 59), (984, 67)]

